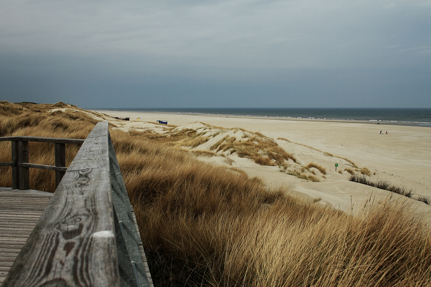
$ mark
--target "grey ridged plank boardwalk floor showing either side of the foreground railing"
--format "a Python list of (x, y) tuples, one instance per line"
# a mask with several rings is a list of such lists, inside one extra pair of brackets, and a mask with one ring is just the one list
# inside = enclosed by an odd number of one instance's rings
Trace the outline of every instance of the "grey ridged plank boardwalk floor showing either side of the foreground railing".
[[(7, 272), (9, 272), (52, 196), (52, 193), (45, 191), (0, 187), (0, 284), (3, 283)], [(145, 273), (150, 287), (153, 287), (147, 257), (142, 246), (132, 206), (131, 212), (140, 239), (138, 248), (144, 263)]]

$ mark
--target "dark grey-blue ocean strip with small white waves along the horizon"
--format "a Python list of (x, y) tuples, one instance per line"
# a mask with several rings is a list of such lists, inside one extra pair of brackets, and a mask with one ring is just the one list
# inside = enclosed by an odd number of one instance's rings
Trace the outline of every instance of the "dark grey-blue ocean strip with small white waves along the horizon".
[[(95, 109), (95, 108), (92, 108)], [(111, 111), (145, 111), (220, 114), (255, 117), (302, 117), (333, 120), (369, 120), (431, 125), (431, 108), (97, 108)]]

